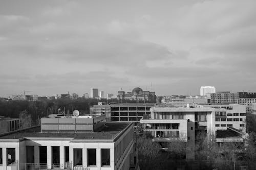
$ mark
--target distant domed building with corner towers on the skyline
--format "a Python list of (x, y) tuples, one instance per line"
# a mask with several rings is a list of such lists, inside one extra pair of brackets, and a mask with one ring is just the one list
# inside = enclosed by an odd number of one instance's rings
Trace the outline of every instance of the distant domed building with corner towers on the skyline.
[(140, 87), (134, 88), (131, 92), (118, 91), (117, 98), (123, 103), (124, 100), (144, 101), (144, 103), (156, 103), (156, 94), (154, 91), (143, 91)]

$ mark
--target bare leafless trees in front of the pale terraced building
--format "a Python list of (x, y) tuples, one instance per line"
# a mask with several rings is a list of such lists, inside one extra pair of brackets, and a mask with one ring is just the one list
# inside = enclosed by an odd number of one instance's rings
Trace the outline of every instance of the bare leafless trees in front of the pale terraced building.
[[(167, 144), (166, 144), (167, 143)], [(251, 132), (245, 143), (217, 143), (212, 134), (198, 134), (194, 151), (195, 161), (187, 161), (185, 142), (153, 142), (150, 135), (137, 136), (137, 151), (141, 169), (247, 169), (256, 167), (256, 134)]]

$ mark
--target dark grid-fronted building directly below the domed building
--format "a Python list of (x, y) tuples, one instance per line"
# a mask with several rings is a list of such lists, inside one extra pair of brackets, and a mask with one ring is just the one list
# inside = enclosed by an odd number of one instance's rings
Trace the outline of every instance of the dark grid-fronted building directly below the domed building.
[(134, 122), (135, 126), (140, 122), (144, 114), (150, 114), (150, 108), (155, 104), (150, 103), (122, 103), (111, 104), (111, 121)]

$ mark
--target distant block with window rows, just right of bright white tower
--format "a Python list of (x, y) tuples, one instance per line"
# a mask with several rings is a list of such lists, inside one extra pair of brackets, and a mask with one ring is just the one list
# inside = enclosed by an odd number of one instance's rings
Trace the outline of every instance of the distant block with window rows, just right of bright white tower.
[(238, 104), (238, 93), (230, 93), (230, 91), (219, 91), (210, 94), (210, 102), (214, 104)]

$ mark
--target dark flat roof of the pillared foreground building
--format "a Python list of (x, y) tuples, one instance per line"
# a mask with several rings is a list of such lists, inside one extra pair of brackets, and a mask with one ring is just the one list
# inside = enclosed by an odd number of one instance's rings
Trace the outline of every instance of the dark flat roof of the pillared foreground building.
[[(78, 133), (48, 133), (41, 132), (40, 126), (28, 128), (25, 130), (15, 131), (14, 133), (6, 133), (0, 135), (0, 142), (5, 141), (5, 139), (38, 139), (46, 140), (49, 138), (72, 138), (75, 140), (116, 140), (120, 134), (122, 134), (127, 128), (131, 127), (133, 123), (131, 122), (115, 122), (115, 123), (105, 123), (104, 126), (99, 128), (97, 132), (78, 132)], [(45, 139), (44, 139), (45, 138)], [(58, 140), (58, 139), (57, 139)]]

